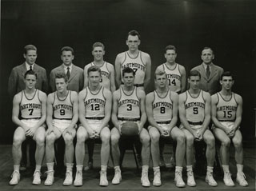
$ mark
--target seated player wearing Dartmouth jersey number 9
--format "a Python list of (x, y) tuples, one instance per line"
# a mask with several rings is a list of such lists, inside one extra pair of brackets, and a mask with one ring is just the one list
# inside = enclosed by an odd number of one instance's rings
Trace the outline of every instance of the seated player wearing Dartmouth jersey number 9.
[(78, 94), (67, 90), (68, 78), (60, 73), (55, 76), (56, 90), (47, 98), (46, 165), (45, 185), (54, 183), (54, 141), (63, 137), (66, 145), (66, 178), (63, 185), (72, 185), (75, 126), (78, 121)]

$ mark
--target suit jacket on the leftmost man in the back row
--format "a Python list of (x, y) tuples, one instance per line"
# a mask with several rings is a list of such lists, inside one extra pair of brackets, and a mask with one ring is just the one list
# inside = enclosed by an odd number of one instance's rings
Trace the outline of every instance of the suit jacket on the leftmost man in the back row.
[[(34, 72), (37, 74), (37, 83), (35, 88), (42, 90), (46, 94), (48, 93), (48, 80), (46, 75), (46, 70), (37, 64), (34, 64)], [(26, 63), (22, 65), (15, 66), (10, 73), (8, 82), (8, 93), (11, 97), (18, 94), (21, 90), (25, 90), (26, 86), (24, 83), (24, 75), (26, 73)]]

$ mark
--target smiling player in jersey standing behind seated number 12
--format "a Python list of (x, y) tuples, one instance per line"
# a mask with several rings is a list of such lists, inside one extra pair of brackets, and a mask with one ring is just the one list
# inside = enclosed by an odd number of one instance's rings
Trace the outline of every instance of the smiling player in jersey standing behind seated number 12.
[[(104, 61), (104, 55), (105, 55), (105, 46), (102, 44), (102, 42), (95, 42), (92, 47), (91, 54), (94, 56), (94, 62), (90, 62), (85, 66), (84, 69), (84, 76), (85, 76), (85, 82), (84, 82), (84, 88), (89, 86), (89, 78), (87, 74), (88, 68), (90, 66), (98, 66), (101, 69), (101, 76), (100, 84), (104, 86), (107, 90), (110, 90), (111, 92), (114, 92), (115, 90), (115, 83), (114, 83), (114, 66), (110, 64), (109, 62)], [(88, 141), (88, 154), (89, 154), (89, 160), (88, 165), (85, 167), (85, 170), (92, 169), (93, 168), (93, 154), (94, 154), (94, 143)]]

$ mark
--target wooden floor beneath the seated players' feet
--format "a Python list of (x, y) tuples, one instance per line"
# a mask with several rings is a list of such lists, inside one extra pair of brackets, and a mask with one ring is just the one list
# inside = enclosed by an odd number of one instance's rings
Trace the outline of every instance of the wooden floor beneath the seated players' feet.
[[(111, 180), (114, 176), (114, 169), (110, 167), (108, 169), (107, 178), (109, 180), (109, 186), (100, 187), (98, 185), (99, 181), (99, 150), (100, 145), (95, 146), (94, 151), (94, 169), (86, 171), (83, 173), (83, 186), (74, 187), (63, 186), (62, 182), (64, 180), (64, 173), (59, 174), (55, 177), (54, 185), (44, 186), (43, 181), (46, 179), (46, 166), (42, 168), (42, 184), (41, 185), (32, 185), (32, 176), (33, 172), (29, 170), (26, 173), (21, 174), (21, 181), (18, 185), (10, 186), (8, 182), (10, 181), (10, 174), (13, 170), (13, 161), (11, 156), (11, 145), (0, 145), (0, 190), (141, 190), (141, 189), (150, 189), (150, 190), (255, 190), (255, 141), (250, 144), (245, 144), (244, 146), (244, 173), (246, 174), (246, 180), (249, 182), (248, 187), (242, 187), (238, 184), (235, 184), (234, 187), (226, 187), (222, 182), (222, 176), (215, 175), (215, 180), (218, 182), (217, 187), (210, 187), (204, 181), (204, 176), (198, 176), (195, 174), (195, 179), (197, 186), (191, 188), (186, 186), (184, 189), (178, 189), (174, 185), (174, 169), (164, 169), (162, 170), (162, 186), (154, 187), (151, 185), (149, 188), (143, 188), (140, 184), (140, 170), (136, 169), (134, 162), (133, 153), (126, 151), (126, 155), (123, 161), (123, 170), (122, 170), (122, 181), (120, 185), (111, 185)], [(165, 160), (166, 163), (170, 161), (170, 150), (171, 146), (166, 145), (165, 148)], [(233, 174), (233, 179), (235, 180), (236, 167), (234, 162), (234, 149), (231, 149), (230, 153), (230, 171)], [(185, 172), (185, 170), (183, 170)], [(184, 181), (186, 181), (186, 173), (183, 172)], [(153, 170), (150, 168), (150, 181), (153, 181)]]

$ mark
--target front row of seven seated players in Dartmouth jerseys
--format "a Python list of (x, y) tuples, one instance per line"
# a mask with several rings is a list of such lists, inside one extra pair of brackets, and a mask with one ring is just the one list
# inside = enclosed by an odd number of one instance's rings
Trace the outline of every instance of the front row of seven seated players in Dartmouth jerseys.
[[(224, 182), (228, 186), (234, 185), (228, 168), (228, 148), (231, 138), (234, 142), (235, 159), (238, 164), (237, 181), (239, 185), (248, 185), (242, 173), (242, 135), (239, 130), (242, 116), (242, 97), (232, 93), (231, 87), (234, 80), (229, 73), (222, 75), (220, 81), (222, 90), (212, 96), (212, 107), (210, 107), (210, 94), (198, 87), (200, 74), (196, 70), (192, 70), (188, 78), (190, 90), (179, 96), (167, 87), (166, 73), (157, 70), (155, 74), (156, 90), (145, 95), (143, 90), (134, 86), (134, 70), (127, 67), (122, 70), (123, 85), (114, 92), (113, 99), (110, 90), (100, 85), (101, 70), (97, 66), (90, 66), (87, 73), (90, 87), (82, 90), (79, 95), (66, 89), (66, 74), (57, 74), (55, 79), (57, 91), (49, 94), (46, 107), (46, 94), (34, 88), (37, 80), (36, 74), (33, 70), (26, 72), (26, 90), (22, 90), (14, 97), (13, 121), (18, 125), (18, 128), (14, 133), (14, 173), (10, 185), (17, 185), (20, 179), (21, 145), (26, 137), (32, 137), (37, 142), (33, 184), (39, 185), (41, 183), (40, 171), (46, 140), (48, 171), (45, 185), (52, 185), (54, 183), (54, 141), (60, 136), (66, 142), (66, 178), (63, 185), (71, 185), (73, 183), (73, 139), (75, 135), (77, 135), (78, 143), (75, 146), (77, 172), (74, 185), (82, 185), (82, 161), (85, 155), (85, 141), (89, 138), (99, 137), (102, 140), (99, 185), (108, 185), (106, 169), (110, 156), (110, 141), (115, 172), (112, 184), (119, 184), (122, 175), (119, 166), (118, 140), (122, 137), (122, 125), (126, 121), (134, 121), (138, 125), (138, 136), (142, 142), (142, 186), (150, 186), (148, 178), (150, 149), (154, 168), (153, 185), (162, 185), (158, 146), (160, 137), (173, 138), (178, 142), (175, 154), (177, 165), (174, 178), (178, 187), (185, 186), (182, 180), (182, 164), (185, 152), (187, 185), (196, 185), (192, 169), (193, 144), (194, 141), (201, 141), (202, 139), (206, 141), (206, 182), (211, 186), (216, 186), (217, 182), (214, 181), (213, 177), (215, 142), (213, 133), (208, 129), (210, 108), (212, 109), (214, 134), (222, 141)], [(114, 128), (110, 131), (108, 122), (110, 121), (111, 107)], [(180, 129), (176, 126), (178, 110), (182, 122)], [(18, 118), (19, 114), (21, 114), (21, 119)], [(148, 130), (143, 127), (146, 123), (146, 116), (150, 122)], [(75, 127), (78, 117), (81, 125), (76, 132)], [(48, 126), (47, 130), (46, 125), (44, 125), (45, 121)]]

